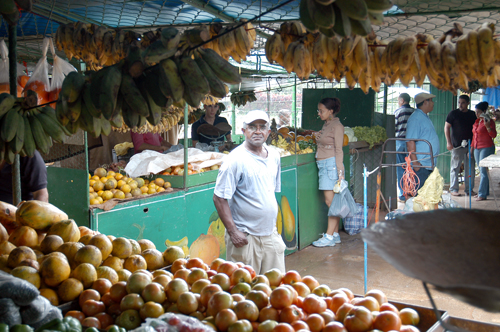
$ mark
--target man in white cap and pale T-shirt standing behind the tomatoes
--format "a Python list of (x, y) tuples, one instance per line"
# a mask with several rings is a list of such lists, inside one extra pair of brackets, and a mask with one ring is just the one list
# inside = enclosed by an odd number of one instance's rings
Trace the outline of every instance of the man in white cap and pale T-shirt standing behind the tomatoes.
[(226, 227), (226, 259), (251, 265), (257, 274), (285, 273), (286, 245), (276, 230), (281, 191), (280, 155), (264, 144), (271, 133), (264, 111), (243, 120), (245, 141), (226, 156), (214, 190), (214, 204)]

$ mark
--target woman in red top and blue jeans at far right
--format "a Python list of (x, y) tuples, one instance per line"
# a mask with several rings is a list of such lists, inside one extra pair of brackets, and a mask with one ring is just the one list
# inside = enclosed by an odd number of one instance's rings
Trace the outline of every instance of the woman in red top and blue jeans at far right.
[[(488, 103), (483, 101), (476, 105), (476, 122), (472, 127), (472, 148), (474, 157), (479, 164), (481, 160), (495, 153), (495, 143), (493, 139), (497, 137), (495, 121), (486, 114)], [(490, 194), (490, 181), (488, 179), (488, 169), (479, 167), (481, 180), (476, 195), (476, 201), (484, 201)]]

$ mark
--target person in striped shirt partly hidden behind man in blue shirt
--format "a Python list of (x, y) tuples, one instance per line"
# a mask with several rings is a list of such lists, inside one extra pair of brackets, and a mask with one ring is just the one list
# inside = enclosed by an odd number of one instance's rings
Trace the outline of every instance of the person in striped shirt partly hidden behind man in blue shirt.
[[(413, 114), (415, 110), (410, 106), (410, 95), (407, 93), (402, 93), (398, 98), (399, 108), (394, 111), (394, 118), (396, 121), (396, 138), (406, 138), (406, 125), (408, 119)], [(397, 152), (406, 152), (406, 142), (405, 141), (396, 141), (396, 151)], [(406, 154), (398, 153), (396, 154), (396, 162), (398, 164), (402, 164), (405, 162)], [(403, 195), (403, 190), (401, 189), (401, 178), (403, 177), (404, 169), (401, 166), (397, 167), (397, 178), (398, 178), (398, 189), (399, 196), (398, 200), (401, 202), (406, 201), (405, 196)]]

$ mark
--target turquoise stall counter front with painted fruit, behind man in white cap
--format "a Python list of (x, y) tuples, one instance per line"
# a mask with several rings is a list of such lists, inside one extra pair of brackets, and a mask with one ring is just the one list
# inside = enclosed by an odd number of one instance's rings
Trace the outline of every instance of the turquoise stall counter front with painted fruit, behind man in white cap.
[[(299, 243), (297, 158), (289, 157), (282, 159), (281, 192), (276, 193), (280, 207), (276, 227), (287, 245), (286, 254), (296, 251)], [(109, 211), (91, 209), (91, 228), (116, 237), (149, 239), (161, 251), (168, 245), (178, 245), (205, 261), (225, 258), (225, 228), (213, 204), (217, 173), (189, 175), (188, 179), (200, 182), (169, 193), (123, 201)], [(161, 177), (167, 181), (179, 178), (182, 182), (182, 176)]]

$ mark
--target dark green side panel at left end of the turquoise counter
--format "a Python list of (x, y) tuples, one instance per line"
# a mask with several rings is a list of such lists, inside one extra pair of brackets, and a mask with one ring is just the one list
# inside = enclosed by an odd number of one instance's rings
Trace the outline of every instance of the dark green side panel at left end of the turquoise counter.
[(49, 202), (78, 226), (89, 226), (89, 177), (85, 170), (47, 167)]

